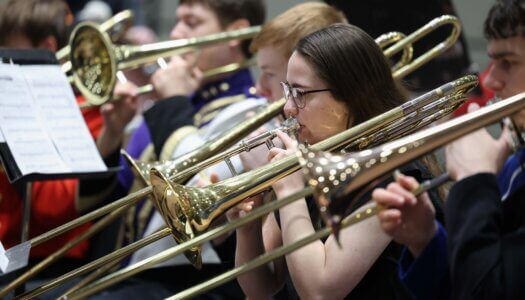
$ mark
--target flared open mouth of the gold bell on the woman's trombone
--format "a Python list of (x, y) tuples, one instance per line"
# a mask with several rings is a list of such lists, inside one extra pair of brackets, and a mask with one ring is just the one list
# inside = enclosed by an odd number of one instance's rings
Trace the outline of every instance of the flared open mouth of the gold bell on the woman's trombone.
[[(195, 237), (193, 229), (182, 212), (182, 209), (188, 209), (184, 205), (176, 205), (178, 191), (175, 191), (170, 181), (158, 170), (152, 169), (150, 171), (151, 183), (153, 187), (153, 199), (157, 206), (157, 210), (162, 215), (164, 222), (171, 229), (171, 233), (178, 244), (187, 242)], [(174, 205), (175, 204), (175, 205)], [(202, 268), (201, 247), (195, 246), (190, 250), (184, 252), (186, 258), (197, 269)]]

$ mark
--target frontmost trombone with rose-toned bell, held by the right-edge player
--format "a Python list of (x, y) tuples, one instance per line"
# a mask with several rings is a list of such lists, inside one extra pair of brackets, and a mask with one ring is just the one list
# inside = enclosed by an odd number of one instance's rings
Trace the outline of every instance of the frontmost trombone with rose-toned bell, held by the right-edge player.
[[(348, 190), (355, 190), (356, 188), (363, 186), (364, 184), (370, 182), (378, 176), (385, 174), (386, 172), (391, 171), (392, 169), (395, 169), (413, 159), (425, 155), (426, 153), (434, 150), (437, 147), (443, 146), (465, 134), (487, 126), (491, 123), (494, 123), (500, 118), (514, 114), (517, 111), (524, 108), (525, 93), (522, 93), (514, 97), (510, 97), (496, 105), (484, 107), (476, 112), (458, 117), (456, 119), (437, 125), (435, 127), (424, 129), (399, 140), (395, 140), (393, 142), (381, 145), (373, 149), (364, 150), (344, 157), (340, 157), (340, 159), (338, 159), (340, 162), (345, 162), (349, 159), (354, 159), (362, 165), (362, 168), (359, 171), (351, 173), (351, 177), (348, 177), (349, 179), (351, 178), (349, 183), (350, 186), (347, 186)], [(386, 157), (386, 160), (384, 160), (383, 162), (379, 162), (384, 157)], [(370, 160), (375, 160), (378, 162), (369, 164), (369, 167), (367, 167), (366, 164), (367, 162), (370, 163)], [(338, 162), (338, 164), (340, 162)], [(333, 168), (329, 167), (319, 167), (323, 168), (324, 171), (328, 169), (333, 170)], [(343, 170), (341, 170), (337, 167), (337, 165), (332, 165), (332, 167), (335, 167), (337, 169), (335, 174), (336, 177), (340, 177), (342, 173), (346, 173), (344, 168)], [(436, 181), (433, 181), (430, 185), (423, 185), (413, 193), (421, 193), (427, 190), (428, 188), (435, 186), (445, 180), (446, 176), (440, 176), (437, 179), (437, 183)], [(195, 237), (194, 240), (163, 251), (155, 257), (147, 259), (140, 266), (130, 266), (123, 270), (117, 271), (116, 273), (108, 275), (105, 279), (103, 278), (97, 283), (92, 284), (86, 287), (85, 289), (79, 291), (79, 293), (72, 295), (71, 299), (79, 299), (81, 297), (88, 296), (92, 294), (92, 289), (94, 288), (96, 288), (98, 291), (100, 290), (99, 287), (107, 287), (111, 283), (115, 283), (119, 280), (122, 280), (125, 276), (128, 276), (130, 273), (137, 274), (138, 272), (140, 272), (140, 270), (144, 270), (147, 266), (152, 266), (157, 263), (160, 263), (162, 259), (166, 256), (174, 257), (183, 253), (184, 251), (191, 249), (192, 247), (196, 247), (206, 241), (216, 238), (219, 235), (228, 233), (229, 231), (237, 227), (245, 225), (257, 218), (271, 213), (272, 211), (275, 211), (280, 207), (283, 207), (298, 199), (302, 199), (307, 195), (311, 195), (313, 193), (313, 189), (314, 188), (309, 186), (306, 187), (303, 191), (300, 191), (283, 199), (273, 201), (264, 206), (258, 207), (247, 216), (234, 220), (233, 222), (222, 225), (220, 227), (211, 229), (210, 231)], [(370, 216), (375, 215), (378, 211), (379, 208), (375, 204), (367, 204), (358, 209), (353, 214), (345, 217), (341, 222), (341, 227), (344, 228), (357, 222), (360, 222)], [(265, 253), (242, 266), (236, 267), (235, 269), (230, 270), (222, 275), (219, 275), (213, 279), (196, 285), (169, 299), (188, 299), (194, 297), (200, 293), (213, 289), (229, 280), (232, 280), (239, 275), (249, 272), (263, 264), (273, 261), (278, 257), (291, 253), (304, 245), (317, 241), (321, 238), (327, 237), (331, 233), (332, 228), (325, 227), (310, 236), (302, 238), (301, 240), (293, 244), (284, 245), (277, 249), (274, 249), (273, 251)], [(99, 286), (97, 286), (97, 284)]]

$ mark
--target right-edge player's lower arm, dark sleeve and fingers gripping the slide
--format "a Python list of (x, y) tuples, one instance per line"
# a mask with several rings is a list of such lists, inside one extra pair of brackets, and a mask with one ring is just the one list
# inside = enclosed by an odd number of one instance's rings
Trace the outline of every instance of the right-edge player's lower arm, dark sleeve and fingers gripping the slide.
[[(427, 193), (414, 196), (413, 177), (399, 174), (387, 188), (376, 188), (374, 201), (381, 227), (394, 241), (405, 245), (399, 259), (399, 277), (416, 299), (449, 298), (446, 232), (435, 221)], [(448, 297), (447, 297), (448, 296)]]

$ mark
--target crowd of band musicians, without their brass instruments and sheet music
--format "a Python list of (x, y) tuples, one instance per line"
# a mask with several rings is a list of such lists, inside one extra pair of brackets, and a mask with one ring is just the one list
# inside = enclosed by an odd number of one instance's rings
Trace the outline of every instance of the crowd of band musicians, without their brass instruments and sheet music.
[[(116, 5), (113, 2), (118, 1), (108, 1)], [(249, 137), (275, 129), (289, 118), (297, 120), (298, 129), (294, 134), (277, 130), (272, 147), (261, 145), (231, 159), (236, 173), (247, 172), (295, 157), (301, 144), (315, 145), (471, 73), (462, 37), (407, 78), (393, 75), (397, 57), (387, 58), (374, 40), (390, 31), (409, 34), (434, 17), (453, 13), (449, 1), (326, 2), (304, 2), (266, 20), (272, 1), (180, 0), (173, 12), (173, 40), (262, 27), (249, 40), (232, 39), (170, 57), (160, 67), (123, 71), (127, 80), (120, 80), (113, 89), (120, 101), (82, 109), (100, 155), (108, 167), (119, 167), (119, 171), (100, 178), (35, 182), (30, 237), (147, 186), (121, 149), (132, 159), (151, 164), (177, 159), (284, 97), (279, 115), (254, 128)], [(68, 44), (78, 23), (79, 14), (72, 11), (78, 5), (63, 0), (5, 1), (0, 6), (0, 46), (57, 52)], [(488, 99), (525, 92), (525, 1), (494, 0), (488, 15), (479, 18), (484, 19), (490, 63), (480, 75), (480, 86), (448, 119), (477, 111)], [(417, 26), (408, 29), (411, 22)], [(115, 43), (153, 42), (154, 36), (149, 29), (133, 26)], [(257, 80), (248, 68), (207, 72), (252, 58)], [(140, 93), (139, 87), (148, 83), (153, 91)], [(79, 104), (88, 101), (72, 88)], [(486, 129), (465, 135), (446, 145), (445, 162), (427, 154), (399, 166), (395, 176), (380, 177), (329, 207), (331, 215), (345, 217), (376, 203), (377, 216), (336, 230), (195, 298), (523, 299), (525, 285), (519, 274), (525, 270), (521, 252), (525, 250), (525, 202), (520, 202), (525, 200), (525, 152), (512, 138), (521, 138), (525, 110), (510, 117), (512, 128), (505, 123), (496, 137)], [(230, 169), (223, 162), (201, 170), (184, 184), (206, 187), (235, 177)], [(414, 194), (420, 183), (444, 171), (453, 183)], [(220, 214), (210, 228), (249, 216), (258, 207), (295, 195), (308, 185), (301, 170), (290, 173)], [(20, 243), (22, 189), (8, 181), (0, 166), (0, 240), (5, 248)], [(26, 291), (161, 231), (167, 217), (158, 203), (144, 197), (130, 206), (101, 232), (28, 281)], [(168, 211), (180, 213), (169, 205)], [(315, 196), (302, 197), (203, 244), (200, 269), (187, 256), (178, 255), (83, 295), (166, 298), (294, 244), (330, 225), (326, 221)], [(26, 270), (94, 224), (88, 222), (32, 248)], [(108, 263), (98, 278), (141, 263), (177, 242), (181, 240), (171, 235), (158, 239)], [(3, 275), (0, 281), (6, 286), (20, 274)], [(38, 297), (57, 298), (83, 277)], [(14, 291), (7, 295), (12, 297)]]

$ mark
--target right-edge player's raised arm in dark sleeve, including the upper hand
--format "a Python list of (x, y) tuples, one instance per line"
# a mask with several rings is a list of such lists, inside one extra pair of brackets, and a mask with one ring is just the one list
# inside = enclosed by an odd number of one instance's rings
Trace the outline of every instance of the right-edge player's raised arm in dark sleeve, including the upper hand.
[[(525, 293), (525, 236), (504, 227), (522, 210), (504, 214), (495, 176), (509, 152), (507, 139), (508, 130), (499, 140), (479, 130), (446, 148), (447, 169), (458, 181), (446, 207), (454, 298), (514, 299)], [(522, 195), (523, 189), (505, 202), (522, 203)]]

